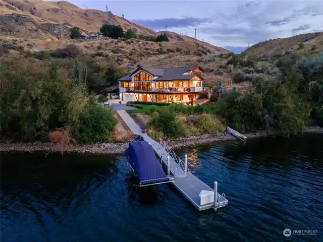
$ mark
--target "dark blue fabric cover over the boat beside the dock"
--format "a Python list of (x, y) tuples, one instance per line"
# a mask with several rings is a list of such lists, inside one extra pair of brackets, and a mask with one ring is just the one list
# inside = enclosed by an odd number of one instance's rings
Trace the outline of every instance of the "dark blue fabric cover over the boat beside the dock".
[(170, 180), (156, 158), (153, 148), (146, 141), (131, 142), (125, 154), (140, 180), (140, 185)]

